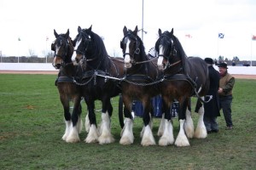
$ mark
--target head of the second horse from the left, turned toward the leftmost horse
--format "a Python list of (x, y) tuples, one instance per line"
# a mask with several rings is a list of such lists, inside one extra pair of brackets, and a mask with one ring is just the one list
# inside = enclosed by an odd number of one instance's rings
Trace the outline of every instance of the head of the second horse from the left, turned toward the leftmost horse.
[(79, 34), (73, 40), (74, 51), (72, 60), (74, 63), (78, 64), (82, 59), (85, 59), (86, 51), (90, 47), (91, 42), (91, 26), (88, 29), (82, 29), (80, 26), (78, 28)]

